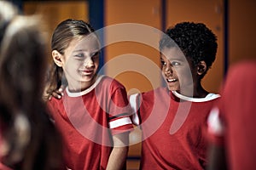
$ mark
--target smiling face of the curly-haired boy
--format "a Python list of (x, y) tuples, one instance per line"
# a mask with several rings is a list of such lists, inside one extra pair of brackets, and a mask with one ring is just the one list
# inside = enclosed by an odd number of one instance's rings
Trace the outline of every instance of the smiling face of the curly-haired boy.
[(160, 54), (161, 70), (171, 91), (189, 95), (193, 93), (196, 69), (179, 48), (163, 48)]

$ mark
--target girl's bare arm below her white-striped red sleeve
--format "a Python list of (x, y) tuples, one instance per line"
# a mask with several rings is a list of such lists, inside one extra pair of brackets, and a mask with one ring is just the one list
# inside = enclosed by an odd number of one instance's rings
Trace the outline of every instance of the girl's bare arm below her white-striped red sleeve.
[(129, 132), (113, 135), (113, 150), (108, 159), (107, 170), (119, 170), (125, 166), (129, 150)]

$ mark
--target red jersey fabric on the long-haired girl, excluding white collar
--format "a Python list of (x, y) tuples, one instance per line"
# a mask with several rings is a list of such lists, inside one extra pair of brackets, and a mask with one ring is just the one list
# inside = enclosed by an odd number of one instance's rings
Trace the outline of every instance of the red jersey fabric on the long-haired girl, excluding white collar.
[[(125, 88), (109, 77), (90, 92), (51, 99), (49, 108), (64, 138), (65, 159), (71, 169), (106, 169), (112, 150), (109, 122), (129, 117), (131, 107)], [(115, 133), (132, 129), (132, 124), (115, 127)], [(119, 131), (118, 131), (119, 130)]]

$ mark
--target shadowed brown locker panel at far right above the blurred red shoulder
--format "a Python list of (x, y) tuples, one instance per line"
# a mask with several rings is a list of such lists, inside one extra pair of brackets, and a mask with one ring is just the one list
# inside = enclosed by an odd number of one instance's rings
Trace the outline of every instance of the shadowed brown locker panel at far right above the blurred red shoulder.
[(256, 2), (232, 0), (229, 11), (230, 65), (243, 59), (256, 59)]

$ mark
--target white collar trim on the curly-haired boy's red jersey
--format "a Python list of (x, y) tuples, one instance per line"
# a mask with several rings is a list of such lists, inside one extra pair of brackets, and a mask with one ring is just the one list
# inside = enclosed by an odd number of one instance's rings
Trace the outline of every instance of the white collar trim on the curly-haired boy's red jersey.
[(188, 96), (184, 96), (183, 94), (178, 94), (176, 91), (172, 91), (172, 94), (174, 94), (179, 99), (184, 99), (192, 102), (205, 102), (205, 101), (210, 101), (212, 99), (217, 99), (220, 97), (219, 94), (207, 94), (205, 98), (190, 98)]

